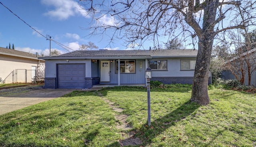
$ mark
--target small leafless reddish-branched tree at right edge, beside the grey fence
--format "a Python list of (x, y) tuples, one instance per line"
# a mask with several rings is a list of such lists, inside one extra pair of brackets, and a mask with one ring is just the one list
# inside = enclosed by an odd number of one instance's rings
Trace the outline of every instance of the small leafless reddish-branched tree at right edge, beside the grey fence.
[[(251, 76), (256, 71), (256, 49), (254, 41), (254, 31), (252, 32), (230, 32), (230, 38), (234, 50), (226, 49), (229, 55), (221, 57), (226, 59), (224, 69), (230, 71), (242, 84), (248, 78), (248, 85), (251, 84)], [(247, 75), (247, 77), (246, 77)]]

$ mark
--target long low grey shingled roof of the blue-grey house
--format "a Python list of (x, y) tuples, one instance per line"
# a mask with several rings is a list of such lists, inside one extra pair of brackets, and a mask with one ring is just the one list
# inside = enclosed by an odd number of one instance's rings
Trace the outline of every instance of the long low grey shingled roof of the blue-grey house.
[(97, 50), (97, 51), (73, 51), (70, 53), (58, 55), (56, 57), (41, 57), (40, 59), (113, 59), (122, 58), (152, 58), (152, 57), (196, 57), (197, 50), (194, 49), (176, 49), (176, 50)]

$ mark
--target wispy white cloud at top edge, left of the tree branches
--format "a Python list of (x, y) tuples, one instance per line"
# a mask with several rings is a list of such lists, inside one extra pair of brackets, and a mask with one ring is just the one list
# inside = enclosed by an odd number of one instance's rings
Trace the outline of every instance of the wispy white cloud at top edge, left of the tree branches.
[(80, 8), (78, 3), (73, 0), (41, 0), (41, 2), (48, 6), (54, 6), (54, 10), (44, 13), (44, 15), (57, 18), (58, 20), (66, 20), (76, 14), (89, 17), (86, 16), (86, 10)]

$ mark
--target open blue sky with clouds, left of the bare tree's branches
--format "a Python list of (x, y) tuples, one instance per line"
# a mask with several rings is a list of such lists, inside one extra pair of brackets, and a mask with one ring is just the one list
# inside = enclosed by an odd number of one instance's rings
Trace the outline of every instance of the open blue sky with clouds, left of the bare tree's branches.
[[(19, 16), (42, 35), (50, 35), (55, 41), (78, 50), (79, 45), (88, 41), (95, 43), (99, 49), (110, 49), (106, 35), (87, 36), (90, 32), (80, 27), (90, 27), (91, 18), (84, 15), (75, 0), (0, 0), (14, 14)], [(16, 50), (47, 55), (50, 41), (36, 33), (17, 16), (0, 4), (0, 47), (14, 44)], [(111, 21), (102, 18), (102, 21)], [(104, 20), (105, 19), (105, 20)], [(115, 42), (111, 49), (127, 49), (122, 41)], [(67, 53), (58, 44), (51, 42), (51, 49)], [(69, 51), (72, 51), (68, 49)]]

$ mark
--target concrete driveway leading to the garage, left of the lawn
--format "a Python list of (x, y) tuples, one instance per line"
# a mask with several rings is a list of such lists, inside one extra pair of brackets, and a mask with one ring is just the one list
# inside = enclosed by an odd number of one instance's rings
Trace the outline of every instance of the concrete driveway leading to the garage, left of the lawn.
[(58, 98), (77, 89), (38, 89), (30, 92), (0, 96), (0, 115)]

